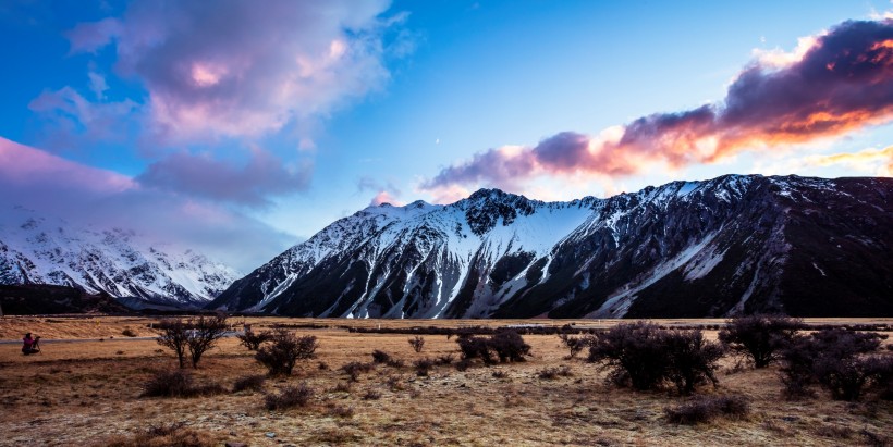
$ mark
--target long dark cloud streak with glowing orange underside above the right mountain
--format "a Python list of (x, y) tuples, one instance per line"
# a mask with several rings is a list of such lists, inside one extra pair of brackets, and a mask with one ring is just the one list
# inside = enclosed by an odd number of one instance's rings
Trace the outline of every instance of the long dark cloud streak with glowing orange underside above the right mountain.
[(458, 185), (512, 188), (537, 176), (617, 178), (839, 137), (891, 116), (893, 21), (845, 22), (800, 39), (793, 53), (758, 54), (721, 102), (643, 116), (598, 136), (564, 132), (535, 147), (478, 152), (420, 187), (442, 196)]

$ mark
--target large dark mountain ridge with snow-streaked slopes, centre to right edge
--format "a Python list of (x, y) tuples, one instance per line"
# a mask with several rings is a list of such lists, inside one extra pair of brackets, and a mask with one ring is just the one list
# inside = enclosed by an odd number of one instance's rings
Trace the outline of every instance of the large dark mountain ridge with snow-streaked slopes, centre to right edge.
[(341, 219), (209, 306), (351, 318), (893, 315), (893, 178), (481, 189)]

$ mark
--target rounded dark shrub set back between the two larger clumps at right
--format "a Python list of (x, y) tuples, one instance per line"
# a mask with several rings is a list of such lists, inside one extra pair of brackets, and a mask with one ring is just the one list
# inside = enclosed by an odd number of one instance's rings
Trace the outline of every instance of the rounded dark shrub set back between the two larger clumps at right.
[(783, 315), (746, 315), (729, 320), (719, 333), (720, 342), (766, 368), (778, 360), (778, 351), (803, 327), (803, 322)]

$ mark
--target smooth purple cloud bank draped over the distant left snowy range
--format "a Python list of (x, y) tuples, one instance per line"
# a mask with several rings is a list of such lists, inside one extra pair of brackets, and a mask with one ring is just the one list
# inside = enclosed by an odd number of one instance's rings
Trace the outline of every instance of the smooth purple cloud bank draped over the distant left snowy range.
[[(198, 250), (242, 272), (297, 241), (213, 202), (145, 188), (127, 176), (0, 137), (0, 210), (15, 206), (73, 224), (134, 229), (152, 240)], [(0, 211), (0, 220), (4, 214)]]

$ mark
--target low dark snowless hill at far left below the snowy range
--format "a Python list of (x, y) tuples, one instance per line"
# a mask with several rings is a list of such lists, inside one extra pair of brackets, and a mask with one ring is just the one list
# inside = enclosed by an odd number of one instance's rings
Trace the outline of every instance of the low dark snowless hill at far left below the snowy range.
[(0, 285), (0, 307), (7, 315), (131, 312), (108, 294), (47, 284)]

